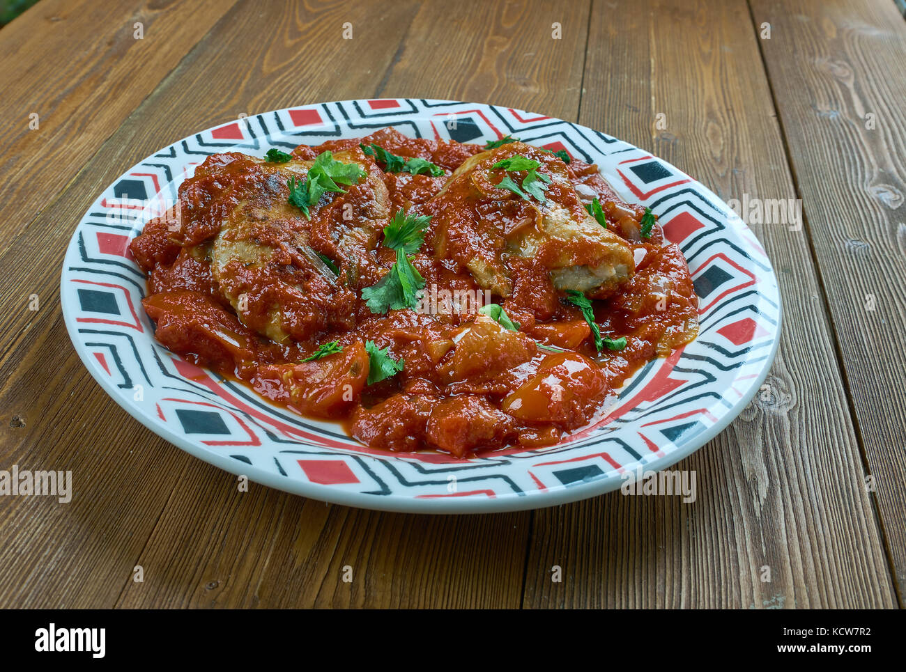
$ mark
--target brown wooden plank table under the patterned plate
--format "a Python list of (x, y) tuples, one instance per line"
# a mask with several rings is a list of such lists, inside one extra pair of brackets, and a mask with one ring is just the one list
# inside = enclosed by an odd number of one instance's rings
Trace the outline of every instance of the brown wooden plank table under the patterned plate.
[[(903, 606), (893, 0), (41, 0), (0, 45), (0, 469), (71, 469), (75, 490), (71, 504), (0, 497), (0, 607)], [(677, 467), (698, 473), (694, 504), (613, 493), (432, 517), (239, 493), (92, 380), (58, 283), (103, 187), (244, 112), (396, 96), (577, 120), (724, 199), (802, 199), (800, 230), (752, 225), (783, 337), (768, 387)]]

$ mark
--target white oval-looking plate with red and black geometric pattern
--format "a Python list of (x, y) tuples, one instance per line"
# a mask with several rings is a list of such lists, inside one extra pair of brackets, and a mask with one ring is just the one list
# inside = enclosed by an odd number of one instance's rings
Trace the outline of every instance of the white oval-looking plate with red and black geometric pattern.
[[(145, 279), (129, 252), (145, 222), (172, 205), (209, 154), (258, 157), (394, 126), (412, 137), (484, 142), (509, 134), (597, 163), (627, 201), (650, 206), (679, 244), (699, 293), (700, 333), (644, 366), (616, 406), (557, 446), (458, 460), (362, 446), (251, 389), (181, 360), (154, 341)], [(658, 470), (736, 418), (774, 360), (780, 297), (755, 235), (679, 169), (602, 132), (522, 110), (454, 101), (338, 101), (265, 112), (178, 140), (104, 190), (75, 228), (63, 262), (63, 317), (92, 376), (130, 415), (212, 465), (338, 504), (421, 513), (485, 513), (563, 504), (614, 490), (627, 472)], [(103, 421), (104, 418), (99, 418)]]

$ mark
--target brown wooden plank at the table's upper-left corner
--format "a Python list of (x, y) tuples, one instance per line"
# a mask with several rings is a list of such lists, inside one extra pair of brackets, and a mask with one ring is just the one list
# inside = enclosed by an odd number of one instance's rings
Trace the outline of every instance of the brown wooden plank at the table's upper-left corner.
[(234, 2), (43, 0), (4, 28), (0, 250)]

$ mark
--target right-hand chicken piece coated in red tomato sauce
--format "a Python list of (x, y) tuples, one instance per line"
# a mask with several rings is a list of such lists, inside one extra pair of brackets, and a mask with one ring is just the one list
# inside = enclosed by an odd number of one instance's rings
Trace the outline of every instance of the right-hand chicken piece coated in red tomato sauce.
[[(494, 166), (513, 157), (540, 164), (537, 172), (549, 178), (544, 201), (499, 187), (508, 173)], [(522, 177), (525, 171), (516, 171)], [(593, 297), (612, 294), (634, 270), (630, 246), (588, 214), (563, 160), (522, 142), (468, 158), (424, 211), (434, 216), (437, 254), (456, 260), (504, 298), (514, 293), (514, 261), (541, 264), (556, 290)]]

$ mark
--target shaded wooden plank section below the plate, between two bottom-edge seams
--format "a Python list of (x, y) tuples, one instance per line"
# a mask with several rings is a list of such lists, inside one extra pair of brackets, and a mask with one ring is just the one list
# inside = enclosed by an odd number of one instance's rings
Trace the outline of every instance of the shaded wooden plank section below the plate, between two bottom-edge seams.
[(381, 514), (192, 465), (119, 607), (515, 606), (528, 516)]

